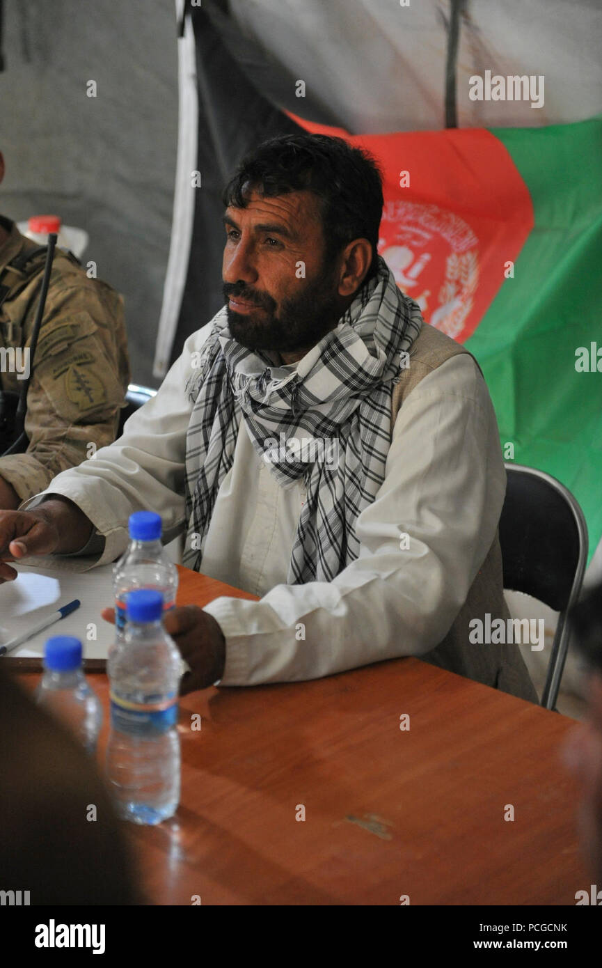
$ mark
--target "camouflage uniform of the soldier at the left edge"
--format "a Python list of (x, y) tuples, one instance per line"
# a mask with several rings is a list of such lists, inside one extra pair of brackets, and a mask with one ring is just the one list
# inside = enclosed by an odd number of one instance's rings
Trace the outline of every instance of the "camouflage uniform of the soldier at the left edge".
[[(0, 275), (24, 249), (37, 248), (14, 223), (2, 219), (2, 224), (10, 236), (0, 245)], [(41, 254), (24, 272), (10, 269), (4, 275), (11, 289), (0, 309), (0, 347), (30, 345), (44, 266)], [(2, 389), (18, 393), (23, 380), (17, 376), (0, 373)], [(0, 476), (21, 500), (89, 457), (90, 442), (100, 448), (115, 439), (129, 380), (122, 297), (88, 279), (74, 257), (56, 249), (27, 394), (29, 446), (25, 453), (0, 457)]]

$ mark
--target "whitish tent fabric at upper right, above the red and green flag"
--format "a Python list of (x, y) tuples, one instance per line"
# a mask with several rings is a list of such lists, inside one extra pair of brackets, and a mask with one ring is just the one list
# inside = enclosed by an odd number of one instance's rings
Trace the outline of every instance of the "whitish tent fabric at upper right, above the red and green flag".
[[(351, 134), (445, 127), (449, 0), (231, 0), (257, 45)], [(600, 111), (599, 0), (468, 0), (458, 52), (458, 126), (524, 127)], [(544, 106), (470, 101), (468, 78), (543, 75)], [(303, 102), (299, 101), (300, 106)], [(300, 109), (301, 113), (301, 109)]]

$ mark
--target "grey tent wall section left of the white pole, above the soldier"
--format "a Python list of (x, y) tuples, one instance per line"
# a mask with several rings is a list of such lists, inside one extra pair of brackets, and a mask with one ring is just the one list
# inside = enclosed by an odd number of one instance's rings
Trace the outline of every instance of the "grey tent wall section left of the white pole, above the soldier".
[(0, 212), (56, 213), (89, 232), (84, 260), (125, 297), (135, 381), (157, 385), (178, 117), (174, 6), (5, 0), (3, 52)]

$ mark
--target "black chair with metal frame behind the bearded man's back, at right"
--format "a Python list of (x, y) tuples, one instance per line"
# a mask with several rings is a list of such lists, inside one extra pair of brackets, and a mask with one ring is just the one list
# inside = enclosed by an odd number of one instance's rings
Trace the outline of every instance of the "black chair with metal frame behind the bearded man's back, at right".
[(503, 586), (559, 613), (541, 697), (541, 705), (554, 710), (570, 638), (566, 613), (579, 598), (586, 570), (586, 520), (556, 477), (520, 464), (505, 468), (508, 483), (499, 519)]

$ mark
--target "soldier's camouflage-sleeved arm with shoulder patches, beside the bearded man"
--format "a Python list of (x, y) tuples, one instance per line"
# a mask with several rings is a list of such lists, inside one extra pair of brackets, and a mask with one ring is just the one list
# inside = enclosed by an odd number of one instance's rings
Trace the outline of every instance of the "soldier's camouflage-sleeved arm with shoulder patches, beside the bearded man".
[(90, 281), (52, 287), (27, 395), (29, 446), (0, 458), (0, 507), (11, 506), (11, 492), (20, 503), (44, 491), (115, 439), (129, 377), (116, 294)]

